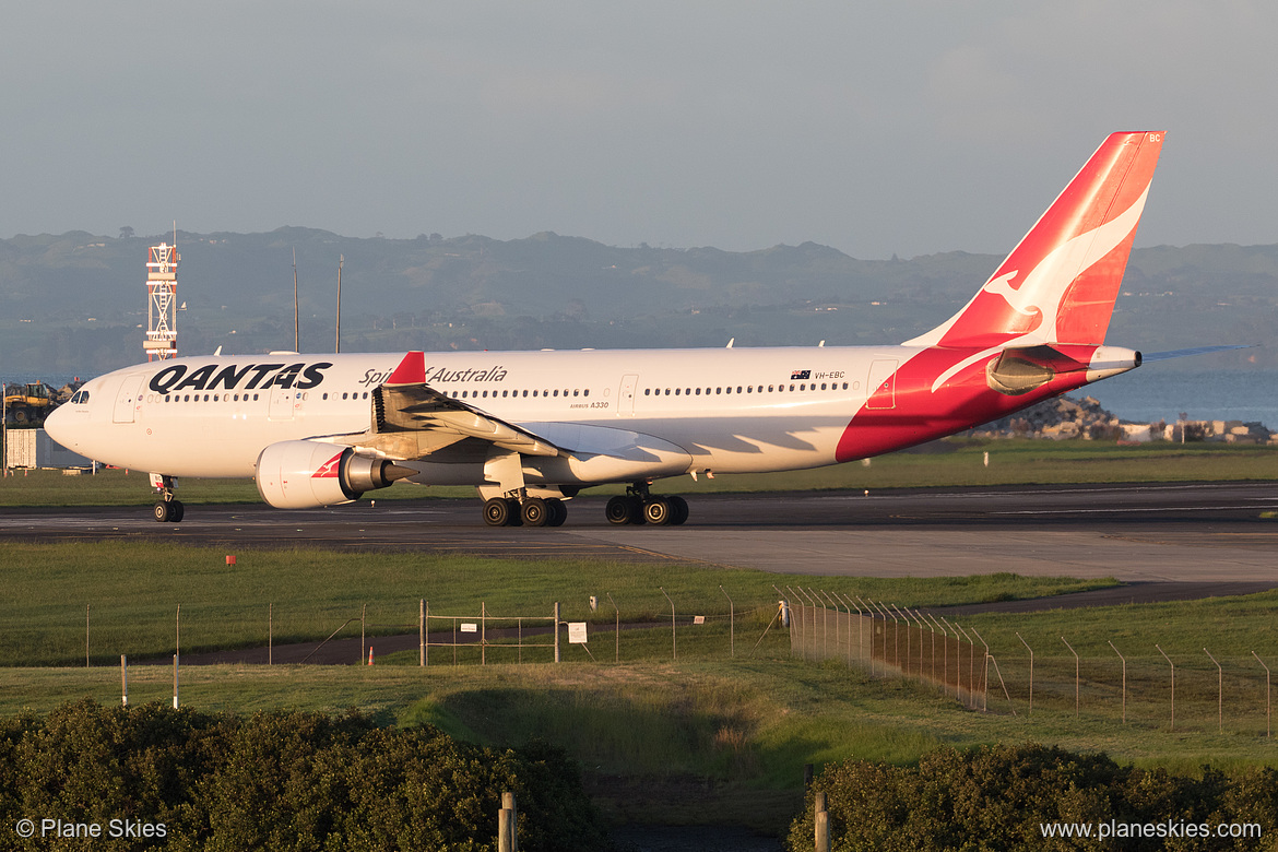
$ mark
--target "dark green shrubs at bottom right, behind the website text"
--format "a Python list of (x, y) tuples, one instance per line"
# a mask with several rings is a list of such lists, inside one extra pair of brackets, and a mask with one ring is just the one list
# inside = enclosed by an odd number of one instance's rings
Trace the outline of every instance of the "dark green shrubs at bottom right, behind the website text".
[[(813, 795), (826, 793), (831, 848), (883, 852), (1030, 852), (1039, 849), (1255, 849), (1258, 839), (1126, 837), (1045, 838), (1047, 823), (1093, 826), (1111, 820), (1141, 824), (1254, 823), (1278, 830), (1278, 773), (1236, 775), (1204, 766), (1201, 777), (1121, 766), (1103, 754), (1021, 745), (971, 751), (939, 749), (918, 766), (861, 760), (831, 764), (795, 819), (789, 844), (813, 843)], [(1098, 829), (1099, 830), (1099, 829)]]

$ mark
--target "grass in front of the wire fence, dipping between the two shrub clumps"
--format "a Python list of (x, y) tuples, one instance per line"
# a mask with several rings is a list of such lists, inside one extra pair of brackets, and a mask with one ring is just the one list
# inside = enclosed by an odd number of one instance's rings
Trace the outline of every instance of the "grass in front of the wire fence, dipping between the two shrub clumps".
[[(169, 703), (171, 677), (167, 666), (130, 667), (130, 704)], [(1085, 696), (1093, 688), (1085, 683)], [(46, 710), (84, 695), (119, 701), (119, 668), (8, 669), (3, 709)], [(1026, 715), (1024, 701), (1017, 715), (993, 701), (992, 713), (978, 713), (924, 685), (792, 660), (783, 644), (755, 657), (620, 666), (185, 667), (181, 700), (238, 713), (354, 706), (385, 723), (432, 723), (491, 745), (539, 737), (574, 754), (592, 793), (619, 820), (772, 830), (800, 806), (804, 764), (819, 769), (849, 756), (909, 764), (944, 743), (1033, 740), (1181, 772), (1278, 765), (1278, 750), (1255, 726), (1173, 732), (1151, 720), (1122, 724), (1086, 705), (1077, 719), (1072, 706), (1051, 703)]]

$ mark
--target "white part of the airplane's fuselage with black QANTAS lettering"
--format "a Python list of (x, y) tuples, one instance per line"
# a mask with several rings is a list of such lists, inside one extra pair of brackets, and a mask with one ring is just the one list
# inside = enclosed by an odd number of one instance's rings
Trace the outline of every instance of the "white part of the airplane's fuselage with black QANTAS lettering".
[[(638, 434), (686, 453), (670, 473), (768, 471), (833, 464), (866, 387), (918, 351), (428, 353), (426, 379), (570, 450), (607, 453), (612, 443), (633, 451)], [(82, 388), (87, 401), (61, 406), (47, 428), (68, 448), (120, 468), (252, 476), (268, 445), (368, 429), (372, 391), (401, 358), (276, 353), (155, 361), (92, 379)], [(566, 474), (576, 482), (629, 475)], [(470, 471), (458, 470), (456, 478), (473, 484)], [(422, 480), (446, 479), (436, 473)]]

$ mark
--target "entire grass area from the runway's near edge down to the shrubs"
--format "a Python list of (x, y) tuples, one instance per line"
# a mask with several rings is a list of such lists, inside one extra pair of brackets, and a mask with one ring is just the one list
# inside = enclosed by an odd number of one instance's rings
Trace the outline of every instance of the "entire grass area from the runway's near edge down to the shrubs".
[[(204, 710), (267, 708), (343, 711), (359, 708), (386, 723), (428, 722), (468, 740), (520, 745), (542, 737), (569, 749), (592, 792), (616, 818), (638, 821), (750, 824), (780, 830), (799, 807), (803, 765), (858, 756), (911, 763), (942, 743), (975, 746), (1035, 740), (1075, 750), (1104, 750), (1121, 761), (1196, 770), (1243, 764), (1278, 765), (1266, 740), (1264, 672), (1259, 653), (1278, 668), (1272, 613), (1278, 593), (1200, 602), (987, 614), (961, 618), (990, 644), (1012, 700), (997, 677), (989, 711), (961, 708), (941, 690), (902, 680), (874, 680), (841, 663), (790, 657), (786, 632), (768, 628), (777, 577), (707, 566), (525, 562), (323, 551), (239, 551), (104, 544), (8, 547), (0, 585), (0, 713), (47, 711), (89, 696), (120, 696), (119, 655), (128, 654), (130, 704), (171, 700), (167, 659), (181, 604), (183, 650), (259, 645), (266, 605), (275, 603), (276, 641), (318, 639), (368, 604), (371, 635), (414, 631), (419, 598), (432, 613), (548, 614), (555, 600), (567, 621), (594, 622), (588, 645), (564, 644), (564, 663), (547, 649), (432, 649), (432, 664), (414, 651), (380, 655), (377, 666), (184, 667), (181, 700)], [(1091, 588), (1075, 580), (1012, 575), (938, 580), (783, 577), (912, 607), (1036, 597)], [(677, 659), (668, 603), (679, 612)], [(736, 603), (730, 651), (727, 589)], [(621, 663), (613, 613), (651, 627), (624, 631)], [(599, 613), (588, 595), (604, 602)], [(91, 598), (91, 599), (89, 599)], [(84, 604), (89, 603), (93, 667), (83, 666)], [(705, 614), (693, 626), (690, 616)], [(353, 636), (358, 623), (345, 635)], [(1028, 651), (1035, 649), (1034, 711), (1028, 713)], [(1074, 710), (1074, 658), (1082, 657), (1081, 713)], [(437, 634), (435, 641), (446, 639)], [(1128, 658), (1127, 722), (1121, 718), (1121, 664)], [(1177, 666), (1176, 727), (1169, 724), (1169, 669)], [(374, 643), (376, 644), (376, 643)], [(1217, 731), (1215, 667), (1224, 666), (1224, 726)], [(979, 671), (978, 659), (978, 671)], [(41, 667), (41, 666), (59, 666)], [(993, 674), (993, 672), (992, 672)], [(1012, 713), (1015, 710), (1015, 714)]]

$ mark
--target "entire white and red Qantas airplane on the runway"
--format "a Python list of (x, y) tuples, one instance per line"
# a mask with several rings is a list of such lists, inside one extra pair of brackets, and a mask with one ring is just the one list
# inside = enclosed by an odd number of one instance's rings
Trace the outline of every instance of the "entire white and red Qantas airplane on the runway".
[(45, 425), (153, 471), (158, 521), (183, 517), (178, 476), (252, 476), (281, 508), (474, 485), (492, 526), (557, 526), (626, 483), (611, 522), (682, 524), (653, 480), (866, 459), (1139, 367), (1103, 344), (1162, 143), (1105, 139), (971, 301), (900, 346), (179, 358), (92, 379)]

